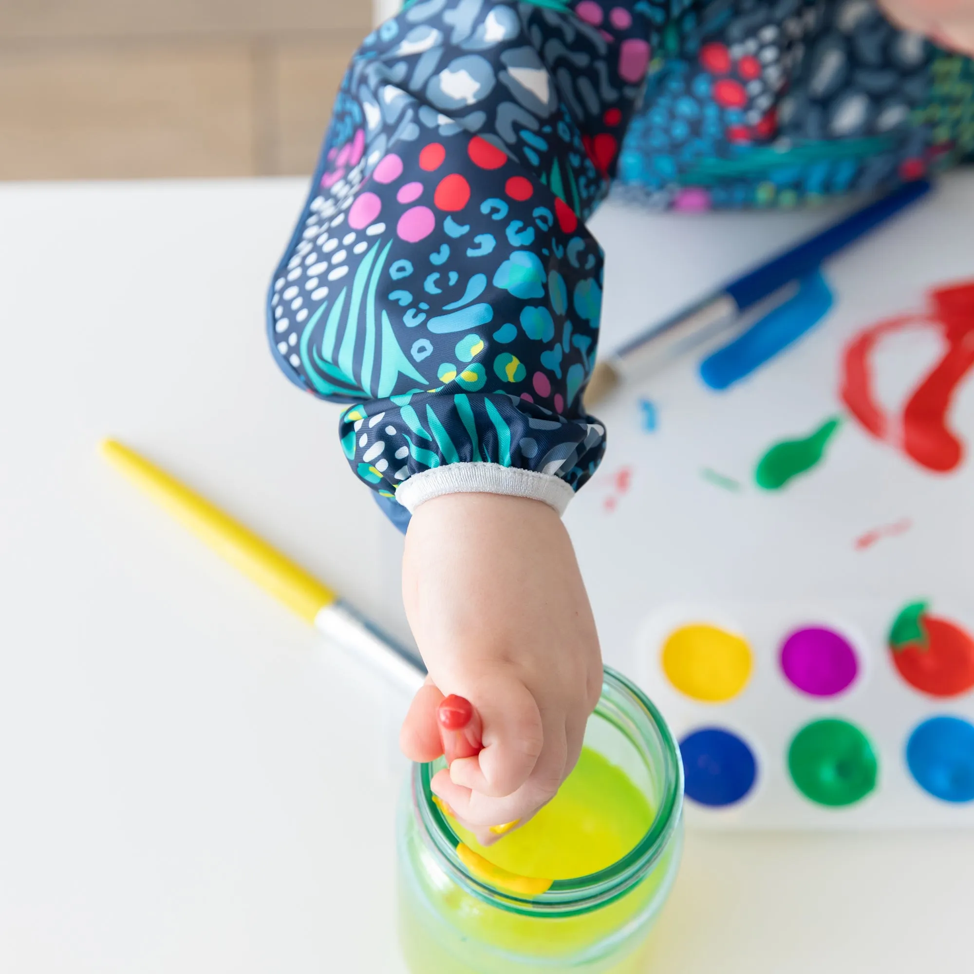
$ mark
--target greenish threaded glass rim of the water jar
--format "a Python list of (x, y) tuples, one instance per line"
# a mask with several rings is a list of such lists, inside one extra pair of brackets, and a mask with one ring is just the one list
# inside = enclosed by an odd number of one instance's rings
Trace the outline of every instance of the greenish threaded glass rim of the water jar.
[[(618, 698), (627, 706), (627, 727), (613, 720), (606, 701)], [(661, 755), (661, 768), (656, 768), (660, 778), (660, 795), (656, 814), (643, 838), (616, 862), (597, 873), (571, 880), (552, 880), (543, 892), (519, 895), (509, 889), (470, 873), (458, 853), (462, 839), (453, 829), (448, 816), (433, 801), (431, 781), (434, 763), (413, 766), (413, 805), (420, 822), (425, 843), (434, 853), (439, 865), (450, 878), (470, 893), (494, 906), (532, 917), (565, 917), (585, 913), (618, 899), (652, 870), (656, 861), (667, 848), (680, 822), (683, 809), (683, 764), (675, 738), (662, 715), (650, 698), (634, 683), (611, 667), (604, 667), (603, 690), (595, 714), (608, 720), (618, 731), (640, 747), (632, 739), (632, 731), (643, 737), (640, 753), (645, 754), (648, 745), (656, 744)], [(632, 718), (635, 718), (633, 720)], [(640, 726), (636, 726), (637, 722)]]

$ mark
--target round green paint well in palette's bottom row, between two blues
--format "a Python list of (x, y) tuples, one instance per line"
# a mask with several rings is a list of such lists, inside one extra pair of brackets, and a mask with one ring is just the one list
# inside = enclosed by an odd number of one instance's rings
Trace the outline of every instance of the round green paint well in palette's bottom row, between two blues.
[(798, 790), (816, 805), (854, 805), (876, 787), (879, 765), (869, 738), (846, 721), (815, 721), (788, 749), (788, 770)]

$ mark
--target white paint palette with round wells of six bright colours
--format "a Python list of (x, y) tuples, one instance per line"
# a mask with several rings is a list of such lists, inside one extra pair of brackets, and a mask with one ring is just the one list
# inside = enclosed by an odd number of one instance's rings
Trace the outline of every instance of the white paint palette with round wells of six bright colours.
[(637, 677), (680, 741), (688, 820), (974, 825), (974, 613), (711, 603), (652, 613)]

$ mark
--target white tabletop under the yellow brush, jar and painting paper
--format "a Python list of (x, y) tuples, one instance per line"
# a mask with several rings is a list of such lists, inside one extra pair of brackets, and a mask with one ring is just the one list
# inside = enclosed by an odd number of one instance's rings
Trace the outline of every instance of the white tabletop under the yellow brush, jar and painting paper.
[[(0, 187), (0, 970), (403, 971), (405, 701), (95, 453), (129, 441), (401, 630), (337, 408), (266, 350), (303, 194)], [(606, 208), (603, 341), (830, 215)], [(651, 971), (967, 972), (972, 876), (970, 834), (692, 833)]]

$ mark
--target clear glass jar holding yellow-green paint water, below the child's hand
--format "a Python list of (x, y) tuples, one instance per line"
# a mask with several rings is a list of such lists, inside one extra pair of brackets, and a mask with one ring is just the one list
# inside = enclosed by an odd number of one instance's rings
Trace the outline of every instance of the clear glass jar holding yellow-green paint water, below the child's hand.
[(585, 746), (625, 773), (654, 819), (618, 862), (574, 880), (542, 880), (543, 891), (538, 880), (478, 868), (432, 798), (443, 759), (413, 766), (397, 835), (399, 938), (413, 974), (645, 970), (647, 937), (680, 859), (679, 752), (647, 696), (608, 668)]

